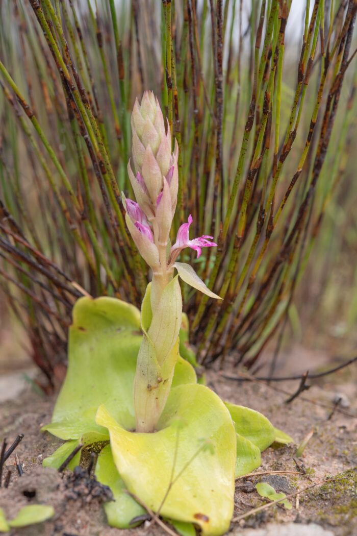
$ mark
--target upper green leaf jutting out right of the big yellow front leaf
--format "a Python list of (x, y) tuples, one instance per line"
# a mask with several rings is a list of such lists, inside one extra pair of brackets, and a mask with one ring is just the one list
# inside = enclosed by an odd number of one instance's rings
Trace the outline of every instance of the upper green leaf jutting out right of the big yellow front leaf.
[(267, 449), (275, 441), (275, 428), (261, 413), (248, 407), (227, 404), (237, 434), (242, 435), (260, 451)]

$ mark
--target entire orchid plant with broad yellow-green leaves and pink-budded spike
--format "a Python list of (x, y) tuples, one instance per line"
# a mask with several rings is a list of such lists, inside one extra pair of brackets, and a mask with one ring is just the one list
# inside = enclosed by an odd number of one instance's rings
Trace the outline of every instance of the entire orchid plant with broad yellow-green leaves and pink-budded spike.
[(135, 102), (132, 135), (136, 201), (123, 193), (125, 219), (152, 279), (141, 311), (111, 297), (75, 304), (66, 379), (43, 427), (67, 442), (44, 465), (59, 467), (77, 448), (71, 468), (81, 449), (100, 450), (95, 474), (115, 497), (104, 507), (111, 525), (133, 526), (145, 505), (182, 534), (198, 526), (219, 536), (232, 517), (234, 478), (258, 467), (271, 443), (292, 440), (260, 413), (223, 403), (183, 359), (188, 326), (178, 278), (220, 298), (177, 258), (186, 247), (200, 257), (216, 244), (206, 235), (189, 239), (191, 215), (170, 243), (178, 145), (171, 152), (170, 128), (151, 92)]

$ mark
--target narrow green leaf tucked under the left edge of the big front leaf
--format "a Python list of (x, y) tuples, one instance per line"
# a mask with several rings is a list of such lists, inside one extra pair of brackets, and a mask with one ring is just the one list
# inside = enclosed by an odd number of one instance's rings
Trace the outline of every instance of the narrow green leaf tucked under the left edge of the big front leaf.
[(142, 513), (146, 513), (146, 510), (124, 492), (126, 487), (114, 465), (110, 445), (105, 446), (100, 452), (95, 467), (95, 475), (98, 482), (109, 486), (113, 492), (114, 501), (104, 503), (109, 525), (117, 528), (134, 527), (135, 525), (129, 525), (131, 520), (136, 516), (141, 516)]

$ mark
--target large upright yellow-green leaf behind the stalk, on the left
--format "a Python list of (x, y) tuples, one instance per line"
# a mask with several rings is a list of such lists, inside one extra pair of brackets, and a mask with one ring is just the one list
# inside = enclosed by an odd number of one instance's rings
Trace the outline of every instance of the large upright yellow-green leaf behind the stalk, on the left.
[[(103, 403), (125, 428), (135, 428), (133, 385), (142, 341), (139, 310), (116, 298), (82, 297), (73, 309), (69, 334), (69, 367), (52, 422), (42, 430), (64, 440), (83, 434), (107, 434), (95, 414)], [(190, 368), (188, 368), (190, 367)], [(191, 365), (174, 382), (192, 382)]]

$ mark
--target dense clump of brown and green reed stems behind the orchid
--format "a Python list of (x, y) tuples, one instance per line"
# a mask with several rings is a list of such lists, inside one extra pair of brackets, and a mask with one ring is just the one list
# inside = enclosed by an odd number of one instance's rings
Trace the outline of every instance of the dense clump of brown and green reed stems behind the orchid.
[(350, 351), (356, 11), (354, 0), (3, 0), (0, 352), (17, 353), (24, 333), (51, 386), (78, 297), (140, 307), (150, 274), (120, 191), (132, 195), (130, 114), (146, 89), (180, 148), (174, 227), (191, 213), (192, 236), (218, 242), (181, 255), (223, 297), (183, 287), (199, 362), (230, 354), (254, 371), (270, 341), (273, 373), (284, 340)]

